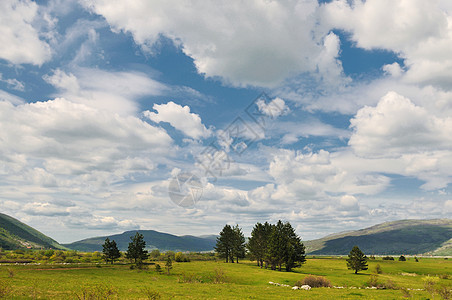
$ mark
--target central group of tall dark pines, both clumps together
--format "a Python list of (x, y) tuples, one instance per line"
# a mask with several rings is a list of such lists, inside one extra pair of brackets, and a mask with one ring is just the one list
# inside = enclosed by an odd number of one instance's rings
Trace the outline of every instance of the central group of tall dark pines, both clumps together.
[(217, 238), (215, 251), (226, 262), (233, 263), (235, 260), (238, 263), (239, 258), (248, 254), (261, 268), (270, 267), (279, 271), (283, 265), (286, 271), (291, 271), (306, 261), (305, 247), (300, 237), (289, 222), (283, 223), (281, 220), (276, 224), (257, 223), (248, 243), (245, 243), (238, 225), (225, 225)]

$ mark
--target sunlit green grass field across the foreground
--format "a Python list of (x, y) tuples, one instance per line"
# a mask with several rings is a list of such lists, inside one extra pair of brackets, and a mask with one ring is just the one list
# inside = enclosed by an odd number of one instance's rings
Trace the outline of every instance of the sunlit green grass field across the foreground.
[[(391, 281), (398, 289), (362, 288), (377, 264), (383, 271), (378, 281)], [(164, 263), (160, 265), (164, 268)], [(325, 276), (344, 288), (304, 291), (268, 283), (293, 286), (309, 274)], [(309, 258), (289, 273), (260, 269), (249, 261), (174, 263), (170, 275), (157, 274), (153, 265), (148, 270), (105, 264), (0, 265), (0, 294), (6, 299), (433, 299), (430, 292), (413, 289), (424, 289), (423, 278), (430, 275), (437, 278), (435, 286), (450, 290), (451, 274), (452, 260), (439, 258), (371, 260), (369, 270), (357, 275), (347, 270), (344, 258)], [(433, 296), (442, 298), (438, 293)]]

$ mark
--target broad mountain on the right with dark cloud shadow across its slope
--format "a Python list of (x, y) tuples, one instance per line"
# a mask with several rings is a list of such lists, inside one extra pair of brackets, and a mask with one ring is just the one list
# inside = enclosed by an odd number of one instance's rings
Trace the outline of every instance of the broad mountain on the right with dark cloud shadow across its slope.
[(401, 220), (306, 241), (311, 255), (347, 255), (357, 245), (365, 254), (452, 255), (452, 220)]

